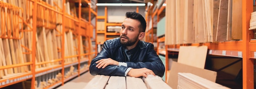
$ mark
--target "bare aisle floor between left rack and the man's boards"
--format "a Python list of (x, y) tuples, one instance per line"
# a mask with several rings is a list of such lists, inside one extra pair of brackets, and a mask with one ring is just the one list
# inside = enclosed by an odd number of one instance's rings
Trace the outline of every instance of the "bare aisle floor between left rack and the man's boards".
[(56, 89), (83, 89), (94, 76), (89, 71), (83, 73), (80, 77), (76, 77), (69, 82), (66, 82), (63, 86), (59, 86)]

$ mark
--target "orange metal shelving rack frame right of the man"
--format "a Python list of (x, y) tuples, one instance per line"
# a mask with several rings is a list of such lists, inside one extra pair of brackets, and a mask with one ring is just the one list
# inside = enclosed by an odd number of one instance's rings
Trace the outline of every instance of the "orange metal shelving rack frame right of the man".
[[(153, 2), (154, 0), (152, 0)], [(243, 89), (253, 89), (254, 88), (254, 60), (256, 59), (256, 40), (254, 39), (254, 32), (249, 30), (250, 16), (253, 12), (253, 1), (252, 0), (242, 0), (242, 30), (243, 30), (243, 40), (231, 40), (225, 42), (204, 42), (204, 43), (192, 43), (192, 44), (172, 44), (165, 45), (165, 50), (157, 51), (158, 54), (165, 55), (166, 61), (166, 71), (168, 71), (168, 54), (179, 52), (180, 46), (202, 46), (208, 47), (208, 55), (217, 56), (227, 56), (243, 58)], [(168, 5), (168, 4), (167, 4)], [(150, 7), (151, 9), (151, 7)], [(161, 9), (156, 9), (155, 12), (151, 14), (146, 14), (146, 16), (155, 16), (157, 13), (161, 13)], [(151, 9), (152, 10), (152, 9)], [(149, 12), (149, 11), (147, 11)], [(147, 21), (153, 18), (147, 18)], [(151, 33), (150, 29), (146, 33), (146, 41), (151, 41), (153, 36), (149, 37)], [(165, 37), (157, 38), (157, 44), (159, 42), (164, 42)], [(167, 73), (166, 73), (167, 74)], [(166, 76), (167, 79), (167, 76)]]

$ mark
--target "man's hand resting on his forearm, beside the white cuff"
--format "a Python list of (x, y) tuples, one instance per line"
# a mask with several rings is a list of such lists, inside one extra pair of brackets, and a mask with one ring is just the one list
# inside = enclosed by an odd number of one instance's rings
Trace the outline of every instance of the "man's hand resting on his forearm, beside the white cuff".
[(96, 67), (98, 67), (98, 69), (100, 69), (100, 68), (104, 69), (108, 65), (119, 65), (119, 62), (117, 62), (117, 61), (115, 61), (111, 58), (101, 59), (101, 60), (98, 60), (95, 63), (98, 63), (96, 65)]

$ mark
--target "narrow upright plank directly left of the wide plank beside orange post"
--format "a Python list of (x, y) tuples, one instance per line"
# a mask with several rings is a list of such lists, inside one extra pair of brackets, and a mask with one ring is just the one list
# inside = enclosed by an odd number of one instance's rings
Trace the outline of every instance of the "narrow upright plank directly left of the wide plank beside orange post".
[(227, 11), (227, 40), (232, 40), (232, 0), (228, 2), (228, 11)]

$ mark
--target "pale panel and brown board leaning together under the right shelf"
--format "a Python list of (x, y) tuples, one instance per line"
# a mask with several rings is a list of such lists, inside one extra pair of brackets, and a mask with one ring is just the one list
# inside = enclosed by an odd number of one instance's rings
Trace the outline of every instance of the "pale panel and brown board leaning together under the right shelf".
[(167, 84), (173, 88), (178, 88), (178, 73), (192, 73), (209, 81), (216, 82), (217, 72), (204, 69), (206, 55), (207, 46), (181, 46), (178, 61), (172, 62), (171, 70), (168, 72)]

